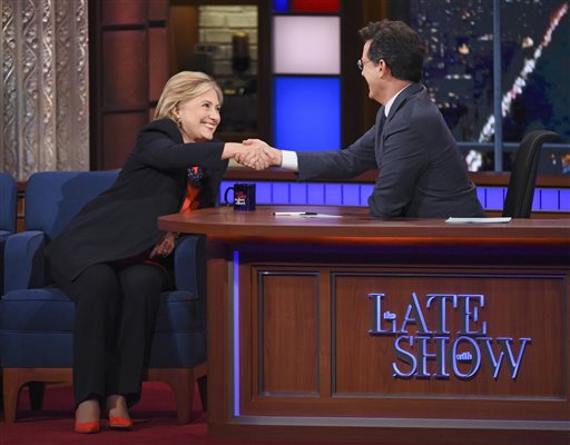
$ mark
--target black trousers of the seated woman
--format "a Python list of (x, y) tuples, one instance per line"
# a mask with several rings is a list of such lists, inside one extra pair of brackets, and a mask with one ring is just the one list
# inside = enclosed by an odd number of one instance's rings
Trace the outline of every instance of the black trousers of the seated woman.
[(150, 264), (122, 269), (98, 264), (73, 281), (56, 269), (52, 276), (76, 305), (76, 405), (88, 398), (104, 403), (111, 394), (132, 405), (140, 398), (160, 293), (171, 283), (168, 275)]

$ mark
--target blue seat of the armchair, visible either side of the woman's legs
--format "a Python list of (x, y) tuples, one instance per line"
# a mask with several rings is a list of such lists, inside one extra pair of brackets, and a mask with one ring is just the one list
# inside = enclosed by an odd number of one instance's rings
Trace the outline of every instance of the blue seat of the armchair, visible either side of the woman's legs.
[[(150, 352), (153, 367), (191, 367), (206, 359), (206, 333), (193, 293), (163, 293)], [(70, 367), (73, 303), (58, 288), (20, 289), (0, 299), (2, 367)]]

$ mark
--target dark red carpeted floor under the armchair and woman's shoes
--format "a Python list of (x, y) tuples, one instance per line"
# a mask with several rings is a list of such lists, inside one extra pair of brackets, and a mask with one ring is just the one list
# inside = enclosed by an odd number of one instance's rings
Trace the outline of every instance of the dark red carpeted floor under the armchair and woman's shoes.
[[(179, 425), (174, 394), (159, 383), (145, 383), (142, 397), (132, 408), (134, 428), (129, 432), (102, 429), (97, 434), (73, 432), (73, 395), (69, 386), (51, 386), (46, 390), (43, 411), (31, 412), (27, 389), (20, 394), (14, 424), (3, 422), (0, 412), (0, 445), (246, 445), (243, 441), (208, 437), (207, 414), (202, 411), (198, 388), (195, 390), (193, 419)], [(101, 423), (104, 425), (105, 422)], [(255, 445), (288, 445), (289, 442), (255, 442)], [(298, 443), (295, 445), (328, 445)]]

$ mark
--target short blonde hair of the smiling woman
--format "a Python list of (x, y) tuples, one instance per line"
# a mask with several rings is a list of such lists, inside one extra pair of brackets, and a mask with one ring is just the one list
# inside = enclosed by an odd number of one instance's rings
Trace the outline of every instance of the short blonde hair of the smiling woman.
[(222, 89), (208, 75), (199, 71), (181, 71), (174, 75), (165, 85), (155, 110), (155, 119), (169, 118), (176, 121), (175, 109), (179, 103), (186, 102), (205, 92), (214, 90), (218, 96), (219, 105), (224, 100)]

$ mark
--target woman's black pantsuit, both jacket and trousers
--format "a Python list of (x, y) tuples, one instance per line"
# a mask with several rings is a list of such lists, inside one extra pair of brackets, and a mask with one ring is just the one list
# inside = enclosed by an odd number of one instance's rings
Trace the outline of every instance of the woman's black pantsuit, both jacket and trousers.
[[(159, 296), (169, 286), (165, 269), (141, 258), (165, 235), (157, 218), (180, 211), (189, 168), (203, 169), (199, 207), (217, 204), (228, 164), (223, 150), (220, 141), (184, 144), (170, 119), (150, 122), (117, 181), (47, 245), (51, 275), (76, 304), (76, 404), (110, 394), (129, 406), (138, 400)], [(171, 259), (153, 260), (169, 269)]]

